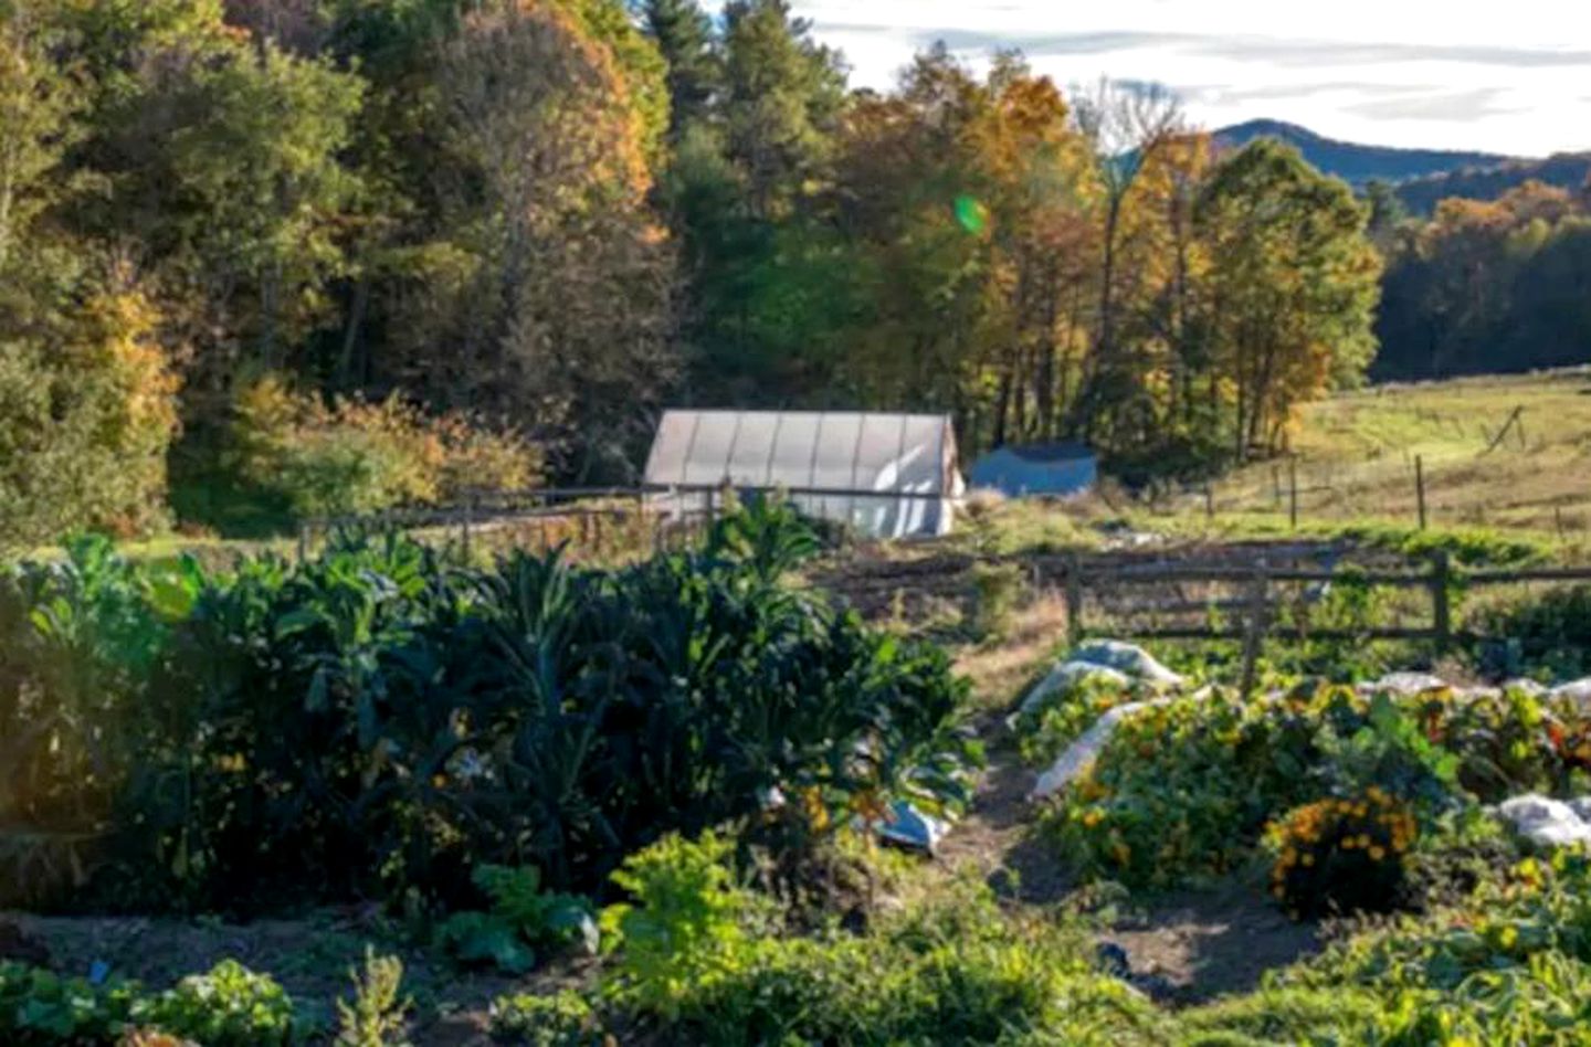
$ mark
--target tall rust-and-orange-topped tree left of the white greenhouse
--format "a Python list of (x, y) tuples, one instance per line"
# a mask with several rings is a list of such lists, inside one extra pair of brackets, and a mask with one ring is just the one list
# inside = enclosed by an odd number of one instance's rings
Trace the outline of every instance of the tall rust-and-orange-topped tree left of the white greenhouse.
[(414, 248), (391, 374), (514, 418), (571, 479), (622, 474), (673, 361), (670, 245), (616, 59), (555, 5), (496, 5), (445, 45), (439, 92), (441, 235)]

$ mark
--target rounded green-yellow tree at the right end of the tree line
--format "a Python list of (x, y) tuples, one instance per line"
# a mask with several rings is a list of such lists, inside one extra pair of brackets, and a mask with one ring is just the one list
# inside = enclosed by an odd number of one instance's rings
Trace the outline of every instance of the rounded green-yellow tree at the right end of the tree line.
[(1236, 390), (1238, 460), (1279, 449), (1298, 404), (1362, 379), (1381, 275), (1365, 218), (1346, 183), (1270, 138), (1222, 162), (1204, 188), (1203, 323)]

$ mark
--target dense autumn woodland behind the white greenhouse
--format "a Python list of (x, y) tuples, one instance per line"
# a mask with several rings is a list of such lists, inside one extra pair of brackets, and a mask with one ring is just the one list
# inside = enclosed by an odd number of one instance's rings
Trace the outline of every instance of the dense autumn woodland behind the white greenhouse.
[(783, 0), (11, 0), (0, 108), (13, 538), (624, 481), (665, 403), (1209, 468), (1373, 350), (1292, 150), (1015, 56), (848, 91)]

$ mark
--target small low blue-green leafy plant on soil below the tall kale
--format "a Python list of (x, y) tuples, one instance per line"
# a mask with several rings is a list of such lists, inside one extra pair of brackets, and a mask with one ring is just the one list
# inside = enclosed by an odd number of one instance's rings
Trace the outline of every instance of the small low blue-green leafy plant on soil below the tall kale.
[(584, 897), (543, 891), (535, 869), (477, 866), (473, 878), (492, 910), (453, 913), (439, 928), (442, 947), (460, 963), (525, 974), (536, 964), (536, 950), (579, 945), (597, 952), (597, 924)]

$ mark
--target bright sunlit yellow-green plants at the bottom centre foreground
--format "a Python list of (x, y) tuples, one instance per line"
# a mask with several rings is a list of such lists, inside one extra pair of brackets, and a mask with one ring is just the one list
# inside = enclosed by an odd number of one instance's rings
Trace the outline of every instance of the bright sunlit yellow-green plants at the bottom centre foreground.
[[(616, 877), (617, 1012), (679, 1044), (1160, 1042), (1160, 1018), (1091, 971), (1087, 936), (1007, 917), (988, 888), (880, 917), (866, 936), (781, 932), (729, 847), (663, 840)], [(501, 1006), (501, 1004), (500, 1004)]]

